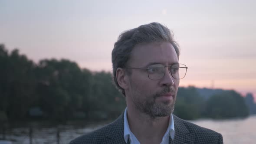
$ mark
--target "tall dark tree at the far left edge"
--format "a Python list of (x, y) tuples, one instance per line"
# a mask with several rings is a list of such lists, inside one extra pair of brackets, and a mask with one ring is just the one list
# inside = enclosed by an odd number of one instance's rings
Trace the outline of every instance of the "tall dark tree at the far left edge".
[(35, 77), (34, 63), (25, 55), (20, 55), (14, 49), (10, 55), (3, 45), (0, 45), (1, 71), (1, 109), (9, 120), (26, 119), (26, 115), (34, 98)]

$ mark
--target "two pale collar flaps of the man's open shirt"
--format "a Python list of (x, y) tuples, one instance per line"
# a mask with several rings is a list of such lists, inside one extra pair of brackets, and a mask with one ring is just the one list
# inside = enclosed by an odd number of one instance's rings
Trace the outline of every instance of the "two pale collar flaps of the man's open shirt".
[[(172, 114), (170, 115), (170, 120), (169, 120), (169, 126), (164, 134), (164, 137), (168, 134), (171, 136), (171, 139), (174, 139), (174, 120)], [(132, 132), (130, 130), (129, 124), (128, 124), (128, 119), (127, 119), (127, 107), (125, 108), (125, 113), (124, 113), (124, 138), (125, 142), (128, 142), (128, 138), (131, 137)], [(163, 138), (164, 138), (163, 137)]]

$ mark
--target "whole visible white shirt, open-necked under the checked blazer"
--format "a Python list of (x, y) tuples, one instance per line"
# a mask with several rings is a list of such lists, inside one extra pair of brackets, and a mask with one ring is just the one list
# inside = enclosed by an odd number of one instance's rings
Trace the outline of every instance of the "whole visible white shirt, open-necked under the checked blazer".
[[(125, 142), (128, 143), (128, 138), (130, 141), (130, 144), (140, 144), (138, 139), (135, 137), (135, 135), (131, 132), (128, 120), (127, 120), (127, 108), (125, 108), (125, 117), (124, 117), (124, 138)], [(172, 114), (170, 115), (170, 121), (169, 126), (167, 128), (167, 131), (164, 134), (164, 137), (162, 138), (162, 141), (160, 144), (169, 144), (169, 136), (171, 136), (171, 139), (174, 139), (174, 121)]]

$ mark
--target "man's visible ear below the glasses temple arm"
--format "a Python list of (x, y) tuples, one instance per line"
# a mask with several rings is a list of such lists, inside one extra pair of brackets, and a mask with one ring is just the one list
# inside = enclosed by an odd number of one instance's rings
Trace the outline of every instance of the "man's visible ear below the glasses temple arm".
[(118, 82), (118, 85), (120, 85), (121, 88), (127, 89), (128, 88), (128, 75), (125, 73), (125, 69), (118, 68), (115, 73), (116, 80)]

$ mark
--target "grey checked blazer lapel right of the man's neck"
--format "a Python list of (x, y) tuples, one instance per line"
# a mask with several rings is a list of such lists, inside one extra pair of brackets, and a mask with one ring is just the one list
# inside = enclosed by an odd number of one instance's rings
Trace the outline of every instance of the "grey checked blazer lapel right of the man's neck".
[(194, 135), (187, 130), (180, 118), (175, 115), (173, 117), (175, 134), (174, 140), (169, 137), (169, 144), (194, 144)]

